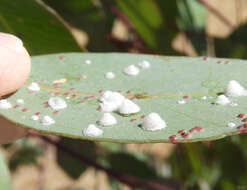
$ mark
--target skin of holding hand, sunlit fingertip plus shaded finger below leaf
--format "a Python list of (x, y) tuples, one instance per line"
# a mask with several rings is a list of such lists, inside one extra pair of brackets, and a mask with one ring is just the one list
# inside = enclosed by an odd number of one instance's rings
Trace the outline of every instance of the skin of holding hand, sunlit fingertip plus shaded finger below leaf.
[[(0, 33), (0, 97), (22, 87), (31, 70), (31, 59), (22, 41), (10, 34)], [(0, 116), (0, 144), (25, 136), (27, 130)]]

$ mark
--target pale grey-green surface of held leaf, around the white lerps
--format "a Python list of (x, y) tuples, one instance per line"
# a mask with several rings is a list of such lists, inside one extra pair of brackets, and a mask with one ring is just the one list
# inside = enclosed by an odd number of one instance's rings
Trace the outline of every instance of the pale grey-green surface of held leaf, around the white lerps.
[[(85, 64), (87, 59), (92, 64)], [(132, 77), (123, 73), (127, 66), (143, 60), (150, 62), (149, 69), (143, 69)], [(237, 115), (246, 113), (246, 96), (231, 99), (238, 106), (214, 104), (217, 94), (224, 92), (230, 80), (237, 80), (247, 87), (244, 74), (247, 64), (244, 60), (70, 53), (37, 56), (32, 58), (32, 62), (32, 73), (26, 86), (8, 98), (13, 108), (0, 110), (0, 114), (10, 121), (29, 129), (71, 138), (123, 143), (171, 142), (172, 135), (176, 135), (178, 142), (195, 142), (244, 132), (237, 127), (229, 128), (227, 124), (242, 124)], [(110, 71), (116, 74), (115, 79), (104, 77)], [(63, 78), (67, 82), (53, 85), (54, 81)], [(33, 81), (39, 83), (41, 91), (28, 91), (27, 85)], [(134, 98), (141, 112), (129, 117), (113, 113), (117, 125), (99, 126), (104, 134), (88, 137), (83, 130), (89, 124), (96, 124), (103, 115), (97, 111), (102, 90), (122, 91), (127, 98)], [(46, 106), (51, 96), (63, 98), (68, 107), (54, 112)], [(207, 99), (202, 100), (203, 96)], [(25, 104), (16, 107), (19, 98), (24, 99)], [(178, 101), (183, 99), (186, 103), (179, 104)], [(31, 120), (37, 112), (40, 119), (49, 115), (56, 123), (45, 126), (40, 120)], [(158, 113), (168, 127), (154, 132), (143, 130), (140, 126), (142, 116), (151, 112)], [(184, 129), (189, 134), (195, 126), (201, 126), (203, 130), (190, 134), (188, 138), (178, 133)]]

